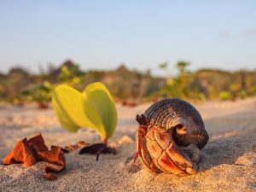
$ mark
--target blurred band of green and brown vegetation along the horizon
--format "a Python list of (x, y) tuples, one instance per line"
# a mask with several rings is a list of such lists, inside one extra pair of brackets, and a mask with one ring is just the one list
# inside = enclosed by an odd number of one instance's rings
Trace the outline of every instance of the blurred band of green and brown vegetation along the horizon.
[(99, 81), (108, 87), (116, 102), (135, 105), (156, 101), (161, 97), (180, 97), (189, 100), (236, 100), (256, 96), (256, 70), (228, 72), (216, 69), (201, 69), (190, 72), (187, 61), (177, 62), (177, 76), (169, 75), (167, 62), (159, 65), (166, 71), (166, 78), (153, 77), (147, 72), (129, 70), (124, 64), (111, 71), (82, 71), (72, 61), (61, 67), (49, 66), (40, 74), (29, 73), (15, 67), (8, 74), (0, 73), (0, 100), (22, 104), (38, 102), (47, 108), (55, 86), (68, 84), (82, 91), (88, 84)]

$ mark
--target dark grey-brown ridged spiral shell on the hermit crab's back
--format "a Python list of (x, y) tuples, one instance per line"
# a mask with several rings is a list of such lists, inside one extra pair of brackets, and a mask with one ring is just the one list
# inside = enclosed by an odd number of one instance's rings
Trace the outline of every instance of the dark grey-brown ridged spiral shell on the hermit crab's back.
[(188, 137), (195, 138), (199, 148), (203, 148), (208, 141), (209, 137), (201, 114), (189, 102), (177, 98), (166, 98), (151, 105), (144, 115), (150, 124), (166, 130), (186, 121), (187, 127), (191, 130)]

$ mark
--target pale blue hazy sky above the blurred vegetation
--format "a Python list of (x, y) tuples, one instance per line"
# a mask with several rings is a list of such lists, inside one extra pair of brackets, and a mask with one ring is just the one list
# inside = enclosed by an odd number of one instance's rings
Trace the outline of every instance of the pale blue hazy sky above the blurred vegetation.
[(126, 67), (155, 75), (162, 62), (256, 69), (256, 1), (0, 0), (0, 71), (33, 73), (71, 59), (84, 70)]

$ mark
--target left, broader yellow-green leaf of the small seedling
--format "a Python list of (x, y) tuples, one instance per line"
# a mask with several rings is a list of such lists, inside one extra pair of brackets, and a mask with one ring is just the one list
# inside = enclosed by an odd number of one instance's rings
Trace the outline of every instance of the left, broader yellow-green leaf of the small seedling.
[(68, 85), (59, 85), (55, 88), (52, 102), (57, 119), (67, 131), (76, 132), (81, 127), (88, 127), (106, 137), (99, 114), (78, 90)]

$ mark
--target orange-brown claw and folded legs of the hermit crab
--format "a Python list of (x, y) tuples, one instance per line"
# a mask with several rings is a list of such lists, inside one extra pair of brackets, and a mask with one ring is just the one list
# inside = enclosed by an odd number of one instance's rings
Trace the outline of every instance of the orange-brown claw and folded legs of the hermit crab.
[[(198, 158), (199, 149), (196, 146), (195, 148), (178, 146), (172, 137), (172, 130), (166, 131), (154, 126), (150, 131), (154, 131), (154, 141), (147, 144), (148, 151), (152, 157), (157, 159), (155, 164), (162, 172), (170, 172), (177, 175), (195, 174), (197, 172), (198, 167), (191, 159), (191, 157), (194, 158), (195, 156), (195, 159)], [(160, 151), (160, 153), (157, 153), (156, 150)]]

